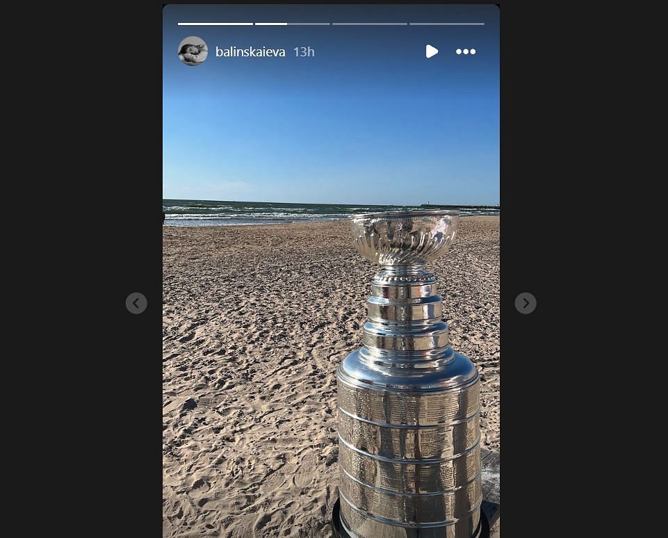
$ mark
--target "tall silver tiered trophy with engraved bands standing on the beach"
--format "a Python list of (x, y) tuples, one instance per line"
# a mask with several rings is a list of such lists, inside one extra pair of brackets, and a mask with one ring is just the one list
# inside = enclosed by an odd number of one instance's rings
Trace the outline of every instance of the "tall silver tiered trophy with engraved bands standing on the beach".
[(371, 282), (364, 347), (336, 371), (344, 538), (482, 535), (480, 376), (450, 347), (436, 279), (457, 211), (355, 215)]

